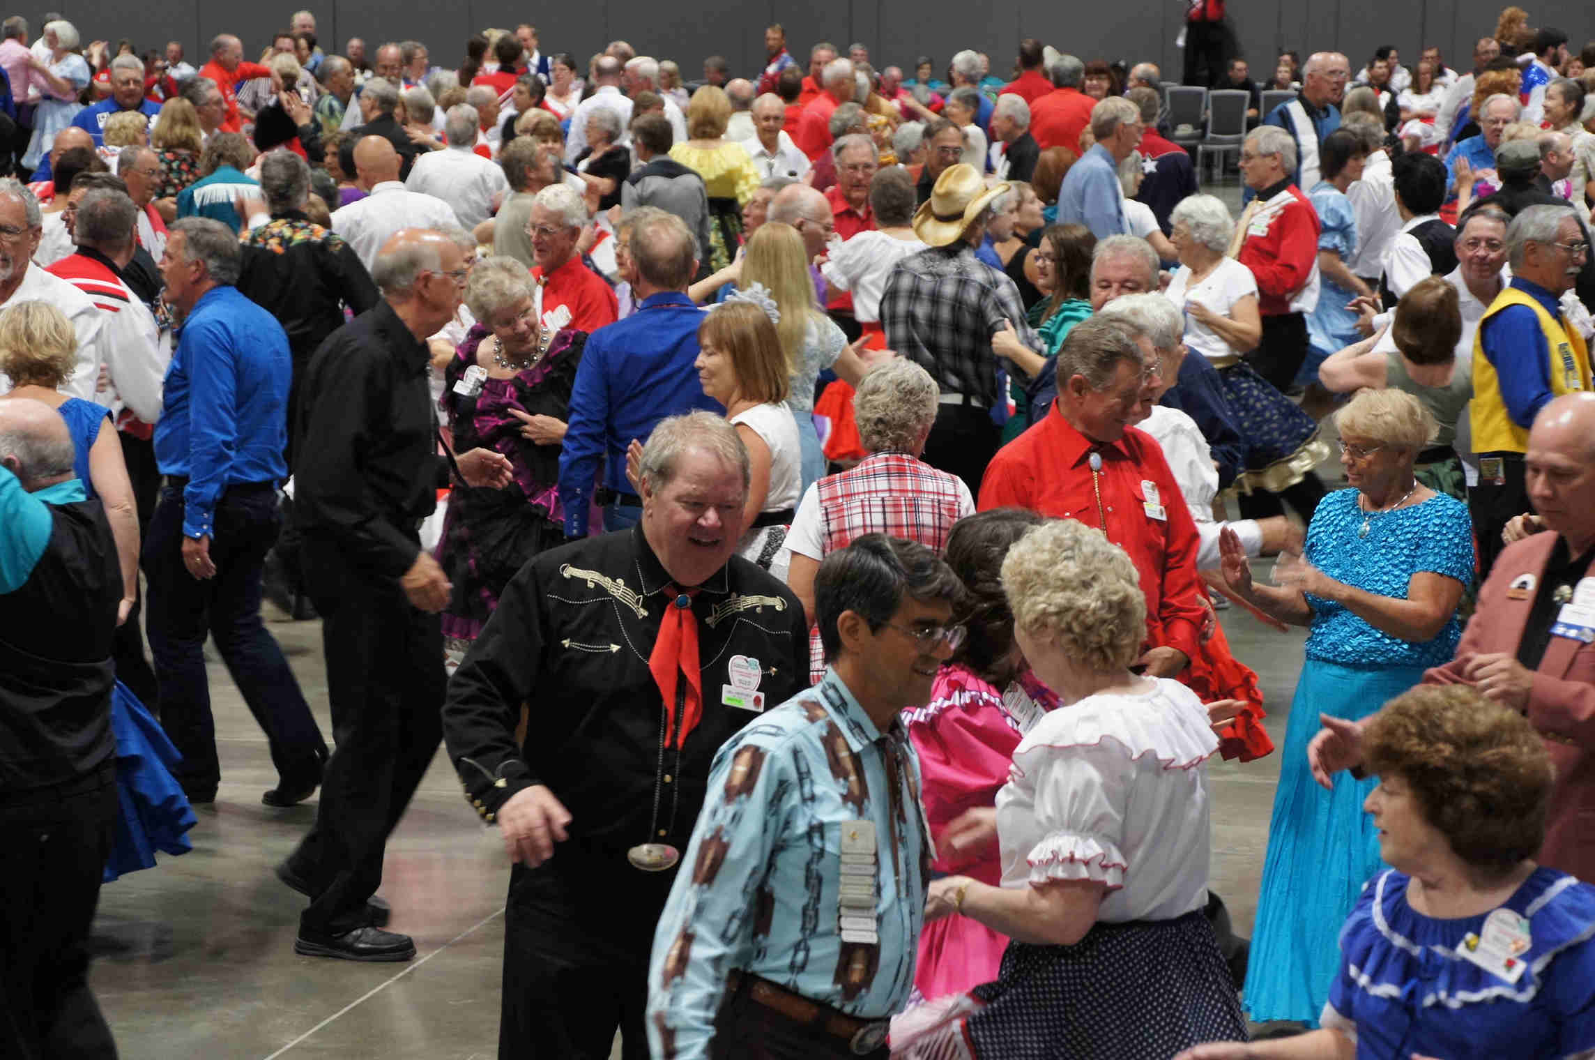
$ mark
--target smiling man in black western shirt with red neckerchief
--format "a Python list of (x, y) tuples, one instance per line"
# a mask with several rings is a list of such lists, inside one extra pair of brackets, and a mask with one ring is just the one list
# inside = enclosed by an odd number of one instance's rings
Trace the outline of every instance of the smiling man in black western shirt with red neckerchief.
[(735, 429), (664, 420), (640, 479), (641, 522), (526, 564), (448, 685), (450, 761), (515, 862), (501, 1057), (606, 1060), (617, 1026), (648, 1057), (649, 948), (710, 761), (809, 685), (802, 605), (734, 554)]

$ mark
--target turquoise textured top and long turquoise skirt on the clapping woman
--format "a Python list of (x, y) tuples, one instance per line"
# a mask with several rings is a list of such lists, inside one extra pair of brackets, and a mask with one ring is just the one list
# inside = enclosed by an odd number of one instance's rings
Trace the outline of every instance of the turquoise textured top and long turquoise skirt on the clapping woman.
[[(1305, 557), (1335, 581), (1405, 599), (1418, 572), (1474, 578), (1467, 506), (1437, 493), (1421, 504), (1375, 514), (1361, 536), (1357, 490), (1319, 503), (1306, 532)], [(1335, 977), (1341, 923), (1362, 884), (1381, 867), (1378, 830), (1362, 811), (1375, 777), (1335, 776), (1325, 792), (1306, 765), (1317, 715), (1359, 720), (1450, 662), (1461, 639), (1456, 616), (1432, 640), (1400, 640), (1367, 624), (1345, 605), (1308, 597), (1313, 626), (1297, 680), (1279, 785), (1268, 824), (1268, 857), (1257, 897), (1244, 1007), (1258, 1023), (1294, 1020), (1317, 1026)], [(1437, 1054), (1443, 1055), (1443, 1054)]]

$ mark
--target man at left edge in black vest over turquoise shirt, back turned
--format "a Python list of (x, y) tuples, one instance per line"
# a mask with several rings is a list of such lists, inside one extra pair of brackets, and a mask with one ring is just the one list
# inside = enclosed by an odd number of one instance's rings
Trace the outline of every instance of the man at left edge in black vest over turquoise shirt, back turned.
[(0, 402), (0, 1057), (116, 1055), (89, 924), (116, 817), (116, 544), (48, 405)]

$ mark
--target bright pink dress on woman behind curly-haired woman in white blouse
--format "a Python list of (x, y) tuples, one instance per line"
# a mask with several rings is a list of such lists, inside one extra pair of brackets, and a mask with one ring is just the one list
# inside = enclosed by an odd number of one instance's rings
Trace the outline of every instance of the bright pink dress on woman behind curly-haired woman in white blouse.
[[(1019, 682), (1026, 696), (1011, 701), (968, 666), (949, 662), (936, 674), (930, 702), (903, 712), (909, 739), (919, 752), (925, 816), (939, 846), (947, 825), (963, 811), (992, 806), (1008, 782), (1013, 752), (1029, 726), (1057, 706), (1057, 696), (1030, 672)], [(998, 886), (1002, 857), (995, 846), (970, 864), (938, 857), (931, 868)], [(968, 916), (944, 916), (925, 924), (919, 937), (914, 988), (925, 1001), (963, 993), (997, 979), (1008, 935)]]

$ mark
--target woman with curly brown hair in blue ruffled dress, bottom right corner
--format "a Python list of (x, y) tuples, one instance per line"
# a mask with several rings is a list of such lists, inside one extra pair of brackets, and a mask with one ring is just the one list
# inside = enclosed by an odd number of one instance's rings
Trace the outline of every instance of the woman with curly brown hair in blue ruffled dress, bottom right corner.
[(1471, 688), (1423, 686), (1367, 725), (1362, 753), (1391, 868), (1340, 929), (1322, 1030), (1176, 1060), (1590, 1055), (1595, 888), (1533, 862), (1544, 738)]

